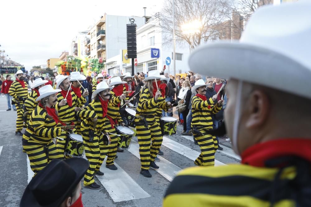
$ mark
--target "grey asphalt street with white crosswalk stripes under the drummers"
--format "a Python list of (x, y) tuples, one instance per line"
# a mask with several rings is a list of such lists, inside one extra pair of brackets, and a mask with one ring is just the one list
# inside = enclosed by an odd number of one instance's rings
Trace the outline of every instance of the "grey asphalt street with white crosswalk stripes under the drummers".
[[(16, 111), (6, 111), (5, 97), (0, 97), (0, 206), (19, 206), (21, 196), (32, 172), (27, 165), (27, 155), (22, 152), (21, 137), (15, 136)], [(23, 130), (24, 131), (24, 130)], [(82, 187), (83, 205), (96, 206), (162, 206), (166, 188), (174, 175), (181, 169), (194, 166), (193, 160), (200, 153), (192, 137), (178, 134), (164, 137), (161, 150), (164, 155), (156, 162), (160, 169), (150, 172), (152, 178), (145, 178), (140, 172), (140, 160), (137, 156), (137, 138), (134, 138), (128, 151), (118, 153), (115, 163), (118, 170), (112, 171), (102, 165), (102, 177), (95, 177), (100, 190)], [(230, 143), (220, 139), (224, 151), (216, 152), (216, 165), (238, 163), (239, 157), (233, 153)]]

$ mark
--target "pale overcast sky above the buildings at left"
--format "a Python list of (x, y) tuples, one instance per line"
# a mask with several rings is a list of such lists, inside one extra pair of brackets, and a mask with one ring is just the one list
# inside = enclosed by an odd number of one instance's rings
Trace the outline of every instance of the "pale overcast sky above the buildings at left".
[(0, 12), (1, 50), (30, 70), (69, 50), (71, 40), (104, 13), (143, 16), (160, 11), (164, 0), (3, 0)]

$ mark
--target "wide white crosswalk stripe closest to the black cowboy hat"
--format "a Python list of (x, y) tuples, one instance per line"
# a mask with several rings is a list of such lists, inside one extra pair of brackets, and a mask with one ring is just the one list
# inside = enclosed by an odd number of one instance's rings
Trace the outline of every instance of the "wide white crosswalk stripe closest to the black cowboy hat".
[(114, 162), (118, 170), (109, 170), (104, 164), (100, 171), (104, 176), (97, 176), (114, 202), (136, 200), (150, 197), (118, 164)]

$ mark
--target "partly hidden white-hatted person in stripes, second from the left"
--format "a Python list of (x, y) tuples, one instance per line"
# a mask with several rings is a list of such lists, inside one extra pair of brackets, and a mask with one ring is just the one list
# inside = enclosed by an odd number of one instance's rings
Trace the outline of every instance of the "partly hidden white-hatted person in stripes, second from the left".
[(40, 78), (34, 80), (34, 86), (32, 87), (32, 91), (30, 92), (30, 94), (28, 94), (28, 97), (25, 100), (24, 104), (24, 122), (26, 126), (28, 125), (32, 111), (38, 105), (38, 102), (35, 100), (37, 97), (40, 96), (39, 88), (42, 88), (47, 82), (47, 80), (42, 80)]

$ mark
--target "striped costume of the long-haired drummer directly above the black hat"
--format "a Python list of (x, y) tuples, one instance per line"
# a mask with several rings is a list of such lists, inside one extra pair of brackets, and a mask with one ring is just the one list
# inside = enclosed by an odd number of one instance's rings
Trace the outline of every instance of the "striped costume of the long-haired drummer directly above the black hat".
[(31, 170), (38, 173), (52, 159), (64, 159), (52, 138), (62, 134), (53, 118), (40, 106), (33, 110), (28, 127), (23, 135), (23, 149), (26, 151)]

